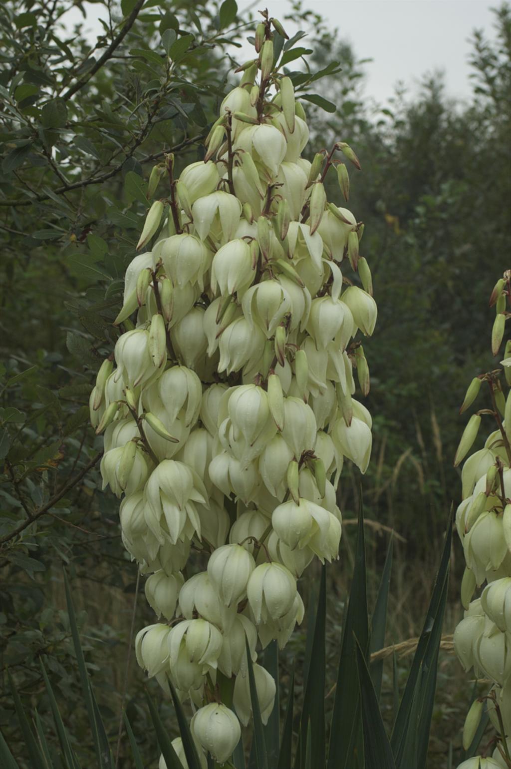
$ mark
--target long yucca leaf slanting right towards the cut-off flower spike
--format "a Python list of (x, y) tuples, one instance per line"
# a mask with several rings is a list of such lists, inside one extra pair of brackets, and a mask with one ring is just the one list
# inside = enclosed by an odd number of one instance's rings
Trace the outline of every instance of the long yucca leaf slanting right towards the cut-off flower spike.
[[(440, 559), (440, 567), (436, 574), (430, 606), (426, 614), (426, 620), (423, 624), (423, 630), (420, 634), (416, 652), (413, 656), (412, 667), (410, 669), (408, 680), (406, 681), (406, 687), (397, 713), (396, 723), (393, 727), (392, 737), (390, 738), (390, 744), (398, 766), (402, 764), (401, 759), (403, 757), (403, 752), (405, 751), (406, 741), (410, 743), (413, 739), (413, 735), (409, 735), (408, 732), (410, 729), (416, 731), (417, 728), (417, 724), (414, 724), (412, 721), (412, 711), (414, 710), (413, 702), (416, 700), (417, 690), (418, 701), (416, 703), (416, 717), (420, 718), (421, 727), (427, 728), (427, 737), (424, 737), (424, 739), (429, 737), (434, 687), (436, 683), (436, 657), (440, 647), (443, 614), (447, 596), (452, 533), (453, 514), (451, 511), (446, 538), (443, 545), (442, 558)], [(430, 677), (429, 672), (433, 665), (433, 677)], [(406, 748), (406, 752), (410, 753), (408, 747)], [(424, 747), (423, 744), (421, 744), (421, 757), (423, 757), (423, 753)], [(418, 757), (419, 756), (417, 756), (417, 758)]]

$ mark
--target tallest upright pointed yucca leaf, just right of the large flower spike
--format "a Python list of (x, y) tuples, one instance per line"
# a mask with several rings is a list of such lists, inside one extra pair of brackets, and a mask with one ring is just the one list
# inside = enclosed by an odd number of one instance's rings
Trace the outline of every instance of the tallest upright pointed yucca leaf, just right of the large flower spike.
[[(363, 504), (360, 495), (357, 547), (351, 583), (350, 598), (343, 621), (337, 686), (330, 725), (328, 769), (353, 767), (363, 752), (363, 733), (360, 714), (356, 637), (367, 654), (369, 627), (367, 618), (366, 550), (363, 535)], [(361, 761), (359, 763), (362, 763)]]

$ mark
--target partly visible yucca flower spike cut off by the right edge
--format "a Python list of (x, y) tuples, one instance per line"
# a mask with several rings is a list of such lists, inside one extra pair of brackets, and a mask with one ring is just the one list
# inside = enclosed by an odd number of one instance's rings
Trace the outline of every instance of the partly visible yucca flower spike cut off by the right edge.
[[(493, 355), (501, 348), (511, 297), (511, 271), (493, 289), (496, 305), (492, 332)], [(483, 418), (493, 419), (493, 431), (484, 448), (463, 464), (463, 501), (456, 511), (456, 528), (466, 560), (461, 587), (465, 608), (454, 633), (456, 654), (466, 671), (492, 682), (489, 716), (499, 733), (492, 758), (481, 766), (509, 767), (511, 737), (511, 340), (506, 341), (502, 368), (480, 375), (470, 383), (460, 412), (476, 401), (481, 388), (489, 391), (489, 407), (476, 411), (463, 431), (454, 464), (472, 448)], [(479, 597), (474, 598), (476, 588)], [(479, 725), (483, 700), (473, 703), (463, 730), (463, 747), (471, 744)], [(479, 760), (476, 757), (474, 761)], [(486, 762), (486, 763), (483, 763)], [(470, 761), (461, 764), (469, 767)], [(476, 764), (474, 764), (476, 765)]]

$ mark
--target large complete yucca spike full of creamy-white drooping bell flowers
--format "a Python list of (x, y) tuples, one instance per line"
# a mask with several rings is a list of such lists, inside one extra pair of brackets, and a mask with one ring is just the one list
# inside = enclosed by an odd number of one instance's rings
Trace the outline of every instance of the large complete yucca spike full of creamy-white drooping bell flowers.
[[(174, 178), (166, 158), (170, 195), (151, 206), (139, 248), (155, 241), (126, 271), (116, 322), (128, 330), (91, 394), (104, 484), (124, 494), (124, 545), (164, 620), (138, 633), (138, 662), (191, 698), (194, 738), (220, 763), (251, 717), (246, 647), (255, 663), (257, 643), (284, 647), (302, 620), (297, 580), (315, 557), (338, 558), (344, 458), (364, 473), (371, 451), (354, 398), (354, 373), (367, 394), (369, 369), (353, 337), (377, 319), (363, 226), (324, 189), (337, 166), (347, 198), (338, 156), (359, 163), (344, 142), (301, 157), (307, 122), (274, 67), (270, 22), (204, 161)], [(185, 580), (192, 548), (203, 571)], [(237, 715), (219, 674), (235, 677)], [(254, 677), (265, 722), (275, 682), (257, 664)]]

